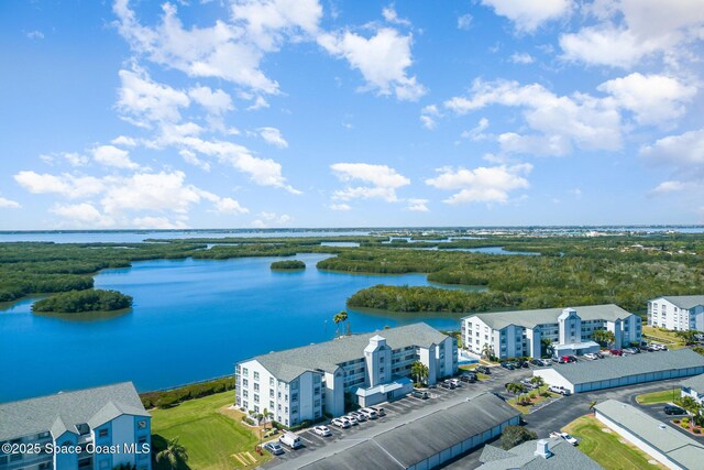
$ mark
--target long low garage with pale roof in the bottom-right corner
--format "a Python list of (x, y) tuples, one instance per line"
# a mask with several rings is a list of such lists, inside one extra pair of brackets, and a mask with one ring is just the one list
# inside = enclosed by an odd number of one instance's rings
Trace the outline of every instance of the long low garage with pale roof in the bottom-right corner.
[(607, 400), (594, 406), (598, 420), (670, 469), (701, 469), (704, 445), (635, 406)]

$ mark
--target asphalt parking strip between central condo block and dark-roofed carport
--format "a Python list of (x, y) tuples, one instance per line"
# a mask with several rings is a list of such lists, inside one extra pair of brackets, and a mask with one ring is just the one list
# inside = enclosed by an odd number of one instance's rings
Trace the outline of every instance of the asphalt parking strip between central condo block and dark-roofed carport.
[[(359, 425), (351, 426), (346, 429), (341, 429), (331, 425), (329, 422), (322, 423), (330, 431), (331, 436), (321, 437), (314, 433), (312, 428), (298, 431), (302, 446), (298, 449), (290, 449), (284, 446), (285, 452), (280, 456), (276, 456), (274, 459), (263, 466), (263, 468), (272, 468), (277, 464), (290, 461), (292, 459), (306, 456), (309, 452), (321, 451), (332, 442), (349, 441), (350, 445), (359, 441), (360, 439), (366, 439), (375, 434), (384, 433), (385, 430), (403, 424), (409, 415), (422, 415), (433, 411), (433, 408), (442, 408), (448, 406), (451, 402), (459, 402), (468, 396), (474, 395), (481, 392), (495, 392), (504, 394), (504, 384), (506, 382), (519, 381), (524, 378), (531, 376), (530, 369), (519, 369), (509, 371), (499, 367), (492, 368), (492, 374), (488, 380), (479, 381), (475, 383), (462, 382), (462, 385), (450, 390), (437, 386), (436, 389), (428, 389), (429, 398), (417, 398), (411, 395), (407, 395), (393, 402), (386, 402), (376, 405), (375, 407), (384, 408), (385, 416), (381, 416), (377, 419), (360, 423)], [(400, 417), (405, 419), (400, 419)]]

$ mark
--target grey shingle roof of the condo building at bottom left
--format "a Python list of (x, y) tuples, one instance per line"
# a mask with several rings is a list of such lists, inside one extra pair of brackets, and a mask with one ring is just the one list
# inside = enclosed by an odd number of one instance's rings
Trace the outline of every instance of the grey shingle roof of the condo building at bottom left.
[[(117, 413), (117, 414), (116, 414)], [(76, 425), (100, 426), (120, 414), (148, 416), (132, 382), (0, 404), (0, 440), (40, 433), (55, 438)]]

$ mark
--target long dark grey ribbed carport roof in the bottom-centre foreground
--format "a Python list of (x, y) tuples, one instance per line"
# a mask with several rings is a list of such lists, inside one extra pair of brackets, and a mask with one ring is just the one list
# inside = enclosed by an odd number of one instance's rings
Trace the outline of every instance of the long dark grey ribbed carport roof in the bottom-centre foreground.
[[(402, 424), (302, 468), (405, 469), (519, 415), (494, 394), (482, 393), (466, 402)], [(386, 462), (386, 466), (375, 463), (374, 459)]]

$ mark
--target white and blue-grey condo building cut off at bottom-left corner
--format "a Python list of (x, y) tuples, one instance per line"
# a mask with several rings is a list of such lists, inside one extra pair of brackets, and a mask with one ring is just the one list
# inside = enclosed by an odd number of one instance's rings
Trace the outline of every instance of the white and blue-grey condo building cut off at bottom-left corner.
[(0, 470), (151, 470), (151, 417), (132, 382), (0, 404)]

